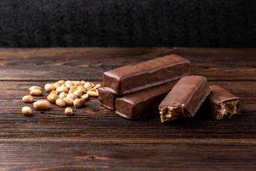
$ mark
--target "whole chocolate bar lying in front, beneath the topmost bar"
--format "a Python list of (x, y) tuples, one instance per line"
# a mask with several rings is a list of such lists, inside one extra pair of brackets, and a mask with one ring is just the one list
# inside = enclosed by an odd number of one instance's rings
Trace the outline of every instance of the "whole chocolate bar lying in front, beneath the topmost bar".
[(130, 120), (137, 120), (158, 111), (158, 104), (175, 86), (172, 81), (116, 98), (116, 114)]

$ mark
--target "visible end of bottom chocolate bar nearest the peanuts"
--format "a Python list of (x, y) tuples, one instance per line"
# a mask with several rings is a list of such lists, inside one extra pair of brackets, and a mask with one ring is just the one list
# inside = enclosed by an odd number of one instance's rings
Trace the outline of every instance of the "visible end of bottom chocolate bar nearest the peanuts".
[(116, 96), (109, 93), (104, 87), (98, 88), (98, 100), (104, 107), (115, 110)]

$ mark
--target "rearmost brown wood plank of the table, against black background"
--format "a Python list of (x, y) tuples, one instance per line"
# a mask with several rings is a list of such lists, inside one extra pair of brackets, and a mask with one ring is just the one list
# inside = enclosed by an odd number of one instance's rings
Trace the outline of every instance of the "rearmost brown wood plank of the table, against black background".
[(256, 79), (254, 48), (0, 48), (0, 81), (102, 81), (104, 71), (170, 53), (210, 81)]

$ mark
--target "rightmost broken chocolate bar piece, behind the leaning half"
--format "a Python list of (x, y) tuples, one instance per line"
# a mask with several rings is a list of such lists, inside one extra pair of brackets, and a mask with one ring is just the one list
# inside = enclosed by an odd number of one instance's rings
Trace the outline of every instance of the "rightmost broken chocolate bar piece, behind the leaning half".
[(228, 113), (230, 116), (240, 114), (240, 98), (217, 85), (210, 86), (210, 90), (207, 103), (212, 119), (220, 120)]

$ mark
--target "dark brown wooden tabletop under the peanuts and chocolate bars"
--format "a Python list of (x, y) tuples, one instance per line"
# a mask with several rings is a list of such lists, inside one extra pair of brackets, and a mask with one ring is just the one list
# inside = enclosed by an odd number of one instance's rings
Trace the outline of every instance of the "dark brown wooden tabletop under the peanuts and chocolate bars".
[[(200, 110), (172, 123), (157, 113), (126, 120), (96, 98), (72, 117), (56, 105), (21, 114), (31, 106), (21, 101), (30, 86), (101, 83), (103, 71), (170, 53), (240, 97), (241, 115), (210, 120)], [(256, 49), (1, 48), (0, 130), (0, 170), (256, 170)]]

